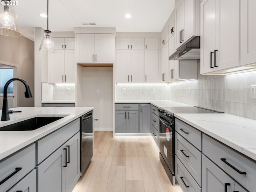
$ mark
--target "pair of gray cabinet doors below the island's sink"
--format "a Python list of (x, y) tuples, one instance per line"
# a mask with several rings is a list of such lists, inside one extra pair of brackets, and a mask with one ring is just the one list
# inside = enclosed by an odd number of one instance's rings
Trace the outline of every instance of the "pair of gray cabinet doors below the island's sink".
[(36, 166), (37, 192), (72, 192), (80, 177), (80, 133)]

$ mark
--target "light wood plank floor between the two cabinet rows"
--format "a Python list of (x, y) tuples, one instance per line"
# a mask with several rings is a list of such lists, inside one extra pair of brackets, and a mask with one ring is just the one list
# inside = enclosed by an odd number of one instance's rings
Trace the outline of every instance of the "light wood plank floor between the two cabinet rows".
[(153, 138), (94, 136), (94, 161), (73, 192), (182, 192), (172, 186)]

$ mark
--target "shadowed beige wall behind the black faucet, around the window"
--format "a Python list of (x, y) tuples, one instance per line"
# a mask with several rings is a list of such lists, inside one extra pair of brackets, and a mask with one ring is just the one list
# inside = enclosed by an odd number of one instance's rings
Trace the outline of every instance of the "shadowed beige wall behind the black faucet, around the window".
[[(34, 96), (34, 42), (24, 36), (3, 35), (0, 42), (0, 62), (17, 67), (17, 77), (26, 80)], [(18, 83), (18, 106), (34, 106), (34, 97), (25, 98), (24, 92), (24, 85)]]

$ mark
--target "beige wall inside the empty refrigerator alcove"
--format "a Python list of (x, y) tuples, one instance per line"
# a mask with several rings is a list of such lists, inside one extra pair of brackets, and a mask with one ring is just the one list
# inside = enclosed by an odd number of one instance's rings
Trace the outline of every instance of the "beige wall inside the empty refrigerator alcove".
[[(113, 130), (113, 68), (83, 67), (82, 73), (82, 106), (94, 107), (94, 124), (96, 131)], [(99, 93), (97, 93), (99, 89)]]

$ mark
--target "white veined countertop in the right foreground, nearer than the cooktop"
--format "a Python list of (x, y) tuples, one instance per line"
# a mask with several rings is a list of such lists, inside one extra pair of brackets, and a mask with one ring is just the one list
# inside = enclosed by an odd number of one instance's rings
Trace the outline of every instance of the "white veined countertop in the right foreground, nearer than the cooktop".
[(184, 113), (174, 116), (256, 160), (256, 120), (225, 113)]

